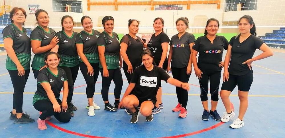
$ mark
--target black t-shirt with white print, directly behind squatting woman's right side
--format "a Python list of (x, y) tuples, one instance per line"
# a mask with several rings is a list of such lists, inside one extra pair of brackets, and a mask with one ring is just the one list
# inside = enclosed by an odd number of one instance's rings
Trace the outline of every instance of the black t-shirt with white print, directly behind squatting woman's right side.
[(160, 62), (161, 54), (163, 51), (161, 44), (164, 42), (169, 43), (169, 37), (167, 36), (166, 33), (161, 32), (157, 36), (155, 36), (155, 33), (152, 34), (152, 36), (151, 36), (151, 38), (147, 44), (148, 49), (152, 52), (152, 55), (154, 56), (155, 62), (158, 62), (158, 63)]

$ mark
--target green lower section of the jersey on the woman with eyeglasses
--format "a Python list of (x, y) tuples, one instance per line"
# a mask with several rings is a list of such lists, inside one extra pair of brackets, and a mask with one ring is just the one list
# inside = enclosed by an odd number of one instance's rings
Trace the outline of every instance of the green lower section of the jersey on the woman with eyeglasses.
[[(30, 61), (32, 57), (31, 53), (19, 53), (16, 54), (16, 56), (25, 70), (30, 69)], [(11, 60), (11, 58), (8, 55), (6, 59), (6, 69), (17, 70), (16, 64)]]

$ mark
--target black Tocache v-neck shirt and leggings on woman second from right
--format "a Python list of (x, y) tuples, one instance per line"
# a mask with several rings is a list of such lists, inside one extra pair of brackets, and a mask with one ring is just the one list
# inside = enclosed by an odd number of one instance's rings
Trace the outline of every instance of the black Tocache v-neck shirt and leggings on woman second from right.
[(208, 100), (208, 88), (210, 80), (211, 100), (218, 101), (219, 84), (222, 67), (219, 67), (223, 58), (223, 49), (227, 50), (229, 42), (224, 36), (216, 35), (213, 44), (207, 36), (197, 38), (193, 50), (199, 52), (198, 68), (203, 72), (199, 79), (201, 87), (201, 101)]

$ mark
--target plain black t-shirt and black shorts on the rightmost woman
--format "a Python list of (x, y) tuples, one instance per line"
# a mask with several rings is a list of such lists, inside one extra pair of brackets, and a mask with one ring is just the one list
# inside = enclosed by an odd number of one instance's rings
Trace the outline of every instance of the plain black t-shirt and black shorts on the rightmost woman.
[(239, 37), (234, 36), (231, 38), (229, 44), (231, 48), (231, 61), (229, 64), (229, 79), (223, 82), (222, 90), (233, 91), (237, 86), (238, 90), (248, 92), (253, 82), (253, 70), (249, 69), (247, 64), (243, 62), (251, 59), (256, 49), (264, 43), (260, 38), (250, 35), (243, 42), (239, 41)]

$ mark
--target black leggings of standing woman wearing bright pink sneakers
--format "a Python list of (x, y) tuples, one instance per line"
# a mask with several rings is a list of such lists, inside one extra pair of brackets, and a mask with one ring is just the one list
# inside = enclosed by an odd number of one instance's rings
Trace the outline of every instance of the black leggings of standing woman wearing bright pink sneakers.
[[(187, 66), (184, 68), (171, 68), (173, 78), (181, 81), (187, 82), (189, 81), (190, 75), (186, 74)], [(176, 87), (176, 95), (178, 99), (178, 103), (182, 104), (182, 107), (186, 108), (188, 102), (188, 91), (184, 90), (180, 87)]]

